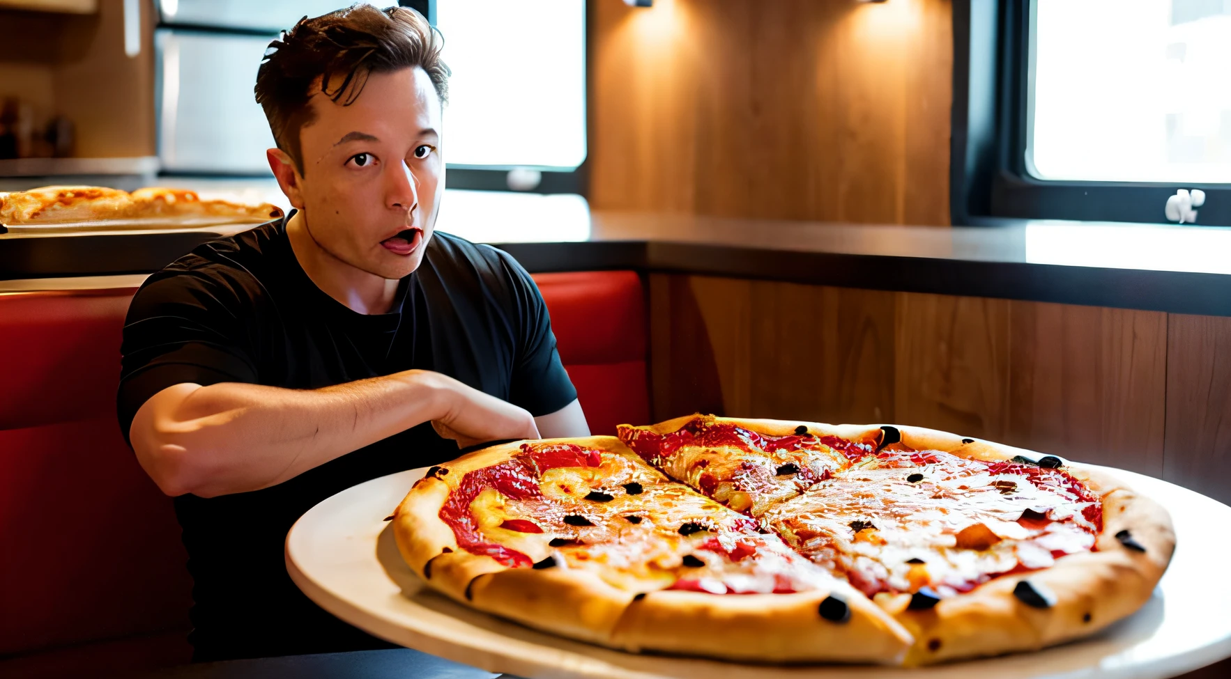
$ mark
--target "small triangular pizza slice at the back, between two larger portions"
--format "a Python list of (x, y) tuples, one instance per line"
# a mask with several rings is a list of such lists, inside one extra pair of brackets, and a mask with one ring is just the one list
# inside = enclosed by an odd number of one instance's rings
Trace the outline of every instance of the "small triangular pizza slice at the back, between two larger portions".
[(760, 517), (873, 453), (881, 432), (693, 415), (650, 427), (620, 424), (617, 433), (672, 478)]

